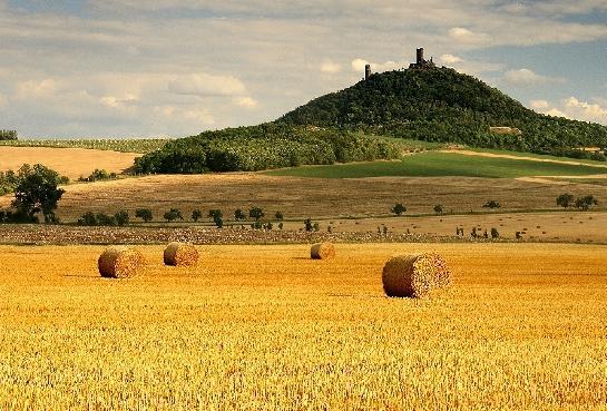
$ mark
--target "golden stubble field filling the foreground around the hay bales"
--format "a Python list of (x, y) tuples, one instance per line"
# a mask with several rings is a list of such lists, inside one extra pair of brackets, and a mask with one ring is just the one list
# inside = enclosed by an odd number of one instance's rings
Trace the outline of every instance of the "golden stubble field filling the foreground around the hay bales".
[[(159, 246), (128, 281), (98, 246), (0, 247), (2, 410), (607, 410), (607, 247)], [(452, 290), (388, 299), (393, 254)]]

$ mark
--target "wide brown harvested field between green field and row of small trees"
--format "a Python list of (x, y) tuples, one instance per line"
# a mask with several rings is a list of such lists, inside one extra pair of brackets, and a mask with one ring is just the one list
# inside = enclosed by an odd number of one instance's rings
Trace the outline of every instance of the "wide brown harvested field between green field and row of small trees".
[[(281, 211), (285, 218), (385, 215), (396, 202), (407, 205), (408, 214), (432, 213), (435, 204), (442, 204), (446, 212), (478, 212), (489, 199), (500, 202), (502, 211), (554, 209), (555, 198), (564, 192), (593, 194), (599, 204), (607, 204), (607, 193), (599, 186), (466, 177), (315, 179), (243, 173), (148, 176), (78, 184), (66, 189), (58, 209), (65, 222), (77, 221), (89, 211), (114, 214), (125, 208), (133, 216), (139, 207), (151, 208), (155, 221), (161, 221), (172, 207), (180, 208), (186, 218), (195, 208), (205, 214), (218, 208), (228, 219), (236, 208), (253, 206), (270, 215)], [(2, 200), (8, 205), (10, 197)]]

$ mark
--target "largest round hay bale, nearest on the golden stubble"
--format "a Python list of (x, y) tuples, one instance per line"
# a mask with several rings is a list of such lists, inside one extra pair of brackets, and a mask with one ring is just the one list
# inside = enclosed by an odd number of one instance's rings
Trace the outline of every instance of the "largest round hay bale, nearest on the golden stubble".
[(435, 286), (435, 274), (432, 254), (399, 255), (383, 267), (383, 291), (388, 296), (421, 297)]

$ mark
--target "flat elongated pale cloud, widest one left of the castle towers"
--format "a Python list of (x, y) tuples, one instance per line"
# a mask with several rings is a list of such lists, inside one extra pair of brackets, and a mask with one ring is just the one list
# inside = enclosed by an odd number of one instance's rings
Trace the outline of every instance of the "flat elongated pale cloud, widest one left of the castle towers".
[(169, 91), (193, 96), (241, 96), (246, 88), (241, 80), (232, 76), (212, 76), (196, 74), (179, 76), (168, 84)]

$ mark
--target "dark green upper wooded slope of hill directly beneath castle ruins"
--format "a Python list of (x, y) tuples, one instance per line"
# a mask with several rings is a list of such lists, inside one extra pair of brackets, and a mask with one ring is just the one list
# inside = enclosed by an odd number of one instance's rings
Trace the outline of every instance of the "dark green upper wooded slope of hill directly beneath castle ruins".
[[(449, 68), (376, 74), (278, 121), (558, 155), (584, 156), (571, 149), (607, 146), (607, 127), (537, 114)], [(522, 135), (490, 133), (490, 127), (499, 126), (518, 128)]]

